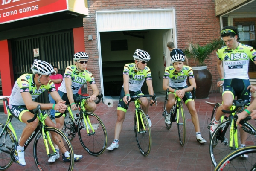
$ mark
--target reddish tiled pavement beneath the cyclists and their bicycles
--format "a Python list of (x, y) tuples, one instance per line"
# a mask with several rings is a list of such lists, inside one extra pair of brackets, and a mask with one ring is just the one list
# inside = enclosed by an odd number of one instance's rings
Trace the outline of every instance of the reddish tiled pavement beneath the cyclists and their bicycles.
[[(134, 104), (131, 103), (126, 113), (123, 129), (119, 137), (119, 148), (112, 152), (105, 151), (99, 157), (93, 157), (82, 148), (78, 136), (72, 141), (75, 154), (83, 155), (84, 158), (75, 163), (74, 171), (213, 171), (209, 157), (209, 130), (207, 119), (211, 116), (212, 103), (221, 102), (221, 94), (210, 94), (208, 99), (195, 99), (196, 109), (200, 122), (201, 135), (207, 140), (205, 145), (196, 141), (194, 125), (191, 116), (185, 107), (186, 113), (186, 142), (180, 146), (176, 123), (167, 130), (162, 117), (164, 96), (157, 98), (158, 105), (150, 107), (149, 116), (152, 121), (152, 146), (147, 157), (140, 154), (135, 141)], [(116, 123), (116, 106), (118, 101), (113, 101), (113, 107), (98, 104), (95, 113), (100, 116), (108, 133), (108, 145), (114, 137)], [(15, 120), (15, 119), (14, 119)], [(0, 115), (0, 122), (4, 123), (6, 116)], [(14, 128), (17, 128), (14, 125)], [(22, 128), (17, 128), (21, 129)], [(16, 129), (15, 129), (16, 130)], [(32, 154), (32, 144), (25, 152), (27, 165), (21, 167), (12, 164), (9, 171), (34, 171), (35, 162)]]

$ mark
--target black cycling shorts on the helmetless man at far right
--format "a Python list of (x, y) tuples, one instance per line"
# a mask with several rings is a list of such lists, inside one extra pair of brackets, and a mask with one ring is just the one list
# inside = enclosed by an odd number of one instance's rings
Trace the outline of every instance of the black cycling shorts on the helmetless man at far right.
[(237, 96), (237, 99), (242, 99), (250, 103), (251, 93), (250, 90), (247, 90), (247, 87), (250, 85), (249, 80), (244, 79), (225, 79), (222, 85), (223, 93), (231, 93), (233, 99)]

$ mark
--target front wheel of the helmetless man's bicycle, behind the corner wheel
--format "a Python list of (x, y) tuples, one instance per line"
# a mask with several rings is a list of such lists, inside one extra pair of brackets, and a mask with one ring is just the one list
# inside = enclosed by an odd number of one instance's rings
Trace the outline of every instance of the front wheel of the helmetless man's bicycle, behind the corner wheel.
[[(245, 122), (244, 124), (249, 130), (256, 131), (253, 126)], [(238, 133), (238, 144), (240, 145), (240, 129), (237, 127), (237, 133)], [(217, 163), (225, 157), (227, 154), (232, 153), (234, 150), (236, 150), (236, 147), (234, 146), (235, 139), (233, 142), (233, 149), (230, 149), (229, 147), (229, 138), (230, 138), (230, 121), (227, 120), (225, 122), (222, 122), (214, 131), (212, 134), (212, 138), (210, 139), (210, 157), (212, 160), (212, 164), (214, 167), (216, 167)], [(246, 145), (252, 146), (256, 145), (256, 136), (255, 135), (247, 135), (246, 139)], [(245, 143), (245, 142), (244, 142)], [(243, 143), (243, 144), (244, 144)]]

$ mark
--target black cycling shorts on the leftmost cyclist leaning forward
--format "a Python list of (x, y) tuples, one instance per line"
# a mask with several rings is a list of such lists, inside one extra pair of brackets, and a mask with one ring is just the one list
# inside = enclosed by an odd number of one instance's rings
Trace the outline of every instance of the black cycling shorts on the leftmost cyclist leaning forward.
[[(22, 115), (25, 112), (31, 112), (34, 114), (33, 110), (27, 110), (26, 106), (14, 106), (12, 104), (8, 105), (9, 108), (9, 112), (12, 114), (12, 116), (14, 116), (15, 118), (17, 118), (19, 121), (23, 122), (21, 120)], [(43, 115), (46, 115), (47, 113), (44, 110), (41, 110), (41, 113)], [(32, 119), (32, 118), (31, 118)]]

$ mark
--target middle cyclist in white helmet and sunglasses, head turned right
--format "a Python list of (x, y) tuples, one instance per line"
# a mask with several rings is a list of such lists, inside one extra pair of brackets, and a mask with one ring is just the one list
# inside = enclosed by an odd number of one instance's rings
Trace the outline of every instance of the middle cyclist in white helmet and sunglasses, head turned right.
[[(150, 55), (148, 54), (148, 52), (144, 50), (136, 49), (133, 57), (134, 57), (134, 63), (125, 64), (124, 71), (123, 71), (124, 83), (122, 86), (119, 103), (117, 107), (115, 137), (114, 137), (114, 141), (107, 148), (107, 150), (110, 150), (110, 151), (119, 147), (118, 139), (122, 130), (122, 124), (125, 120), (125, 113), (127, 111), (126, 104), (128, 103), (128, 101), (131, 101), (130, 96), (135, 96), (138, 94), (143, 95), (140, 89), (145, 80), (148, 85), (149, 94), (150, 95), (154, 94), (154, 90), (152, 86), (151, 71), (149, 67), (147, 67), (147, 62), (150, 60)], [(128, 101), (127, 101), (127, 96), (129, 97)], [(146, 97), (143, 97), (143, 98), (140, 98), (140, 100), (141, 100), (141, 107), (148, 117), (148, 108), (149, 108), (148, 99)], [(152, 99), (150, 99), (150, 103), (154, 104), (155, 102)], [(148, 124), (151, 127), (152, 123), (149, 117), (148, 117)]]

